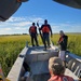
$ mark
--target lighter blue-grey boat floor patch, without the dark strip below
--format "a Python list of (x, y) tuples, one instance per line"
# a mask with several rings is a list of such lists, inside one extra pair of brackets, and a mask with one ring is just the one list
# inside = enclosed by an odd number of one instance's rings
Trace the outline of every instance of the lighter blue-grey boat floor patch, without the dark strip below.
[(48, 68), (48, 60), (41, 60), (41, 62), (33, 62), (29, 65), (31, 75), (41, 75), (41, 73), (48, 73), (49, 68)]

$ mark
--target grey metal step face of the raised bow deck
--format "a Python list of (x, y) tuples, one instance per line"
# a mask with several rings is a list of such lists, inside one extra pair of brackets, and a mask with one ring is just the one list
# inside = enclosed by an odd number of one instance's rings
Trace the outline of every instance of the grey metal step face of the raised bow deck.
[(31, 52), (30, 54), (26, 55), (26, 60), (27, 63), (32, 63), (32, 62), (38, 62), (38, 60), (48, 60), (50, 57), (53, 56), (58, 56), (57, 51), (49, 50), (46, 52), (40, 51), (40, 52)]

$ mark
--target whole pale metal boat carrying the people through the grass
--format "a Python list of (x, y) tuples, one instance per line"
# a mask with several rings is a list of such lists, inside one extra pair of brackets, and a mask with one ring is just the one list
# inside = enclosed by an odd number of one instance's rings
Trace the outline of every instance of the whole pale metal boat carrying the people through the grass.
[[(30, 67), (32, 81), (48, 81), (49, 73), (49, 58), (58, 56), (58, 46), (52, 45), (48, 51), (43, 51), (44, 46), (28, 46), (26, 45), (16, 58), (12, 69), (8, 75), (10, 81), (21, 81), (25, 71), (23, 70), (23, 63), (26, 62)], [(78, 81), (81, 78), (81, 57), (69, 51), (66, 52), (66, 76), (70, 76)]]

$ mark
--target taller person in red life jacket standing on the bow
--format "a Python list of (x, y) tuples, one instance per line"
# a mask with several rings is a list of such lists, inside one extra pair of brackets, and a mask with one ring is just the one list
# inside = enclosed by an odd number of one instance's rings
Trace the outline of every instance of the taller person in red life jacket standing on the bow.
[(44, 44), (44, 51), (46, 51), (46, 42), (48, 42), (48, 48), (50, 48), (50, 32), (52, 37), (52, 29), (51, 25), (48, 24), (48, 19), (44, 21), (44, 24), (41, 26), (40, 30), (42, 31), (43, 36), (43, 44)]

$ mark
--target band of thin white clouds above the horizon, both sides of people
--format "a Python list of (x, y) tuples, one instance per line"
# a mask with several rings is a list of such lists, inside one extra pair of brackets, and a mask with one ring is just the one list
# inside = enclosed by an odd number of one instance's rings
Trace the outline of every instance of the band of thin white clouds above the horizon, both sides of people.
[[(32, 22), (37, 23), (39, 21), (40, 26), (43, 24), (44, 18), (36, 16), (24, 16), (24, 17), (11, 17), (6, 22), (0, 22), (0, 35), (9, 33), (28, 33), (28, 29)], [(58, 32), (59, 30), (69, 32), (80, 32), (81, 24), (77, 23), (50, 23), (53, 32)]]

